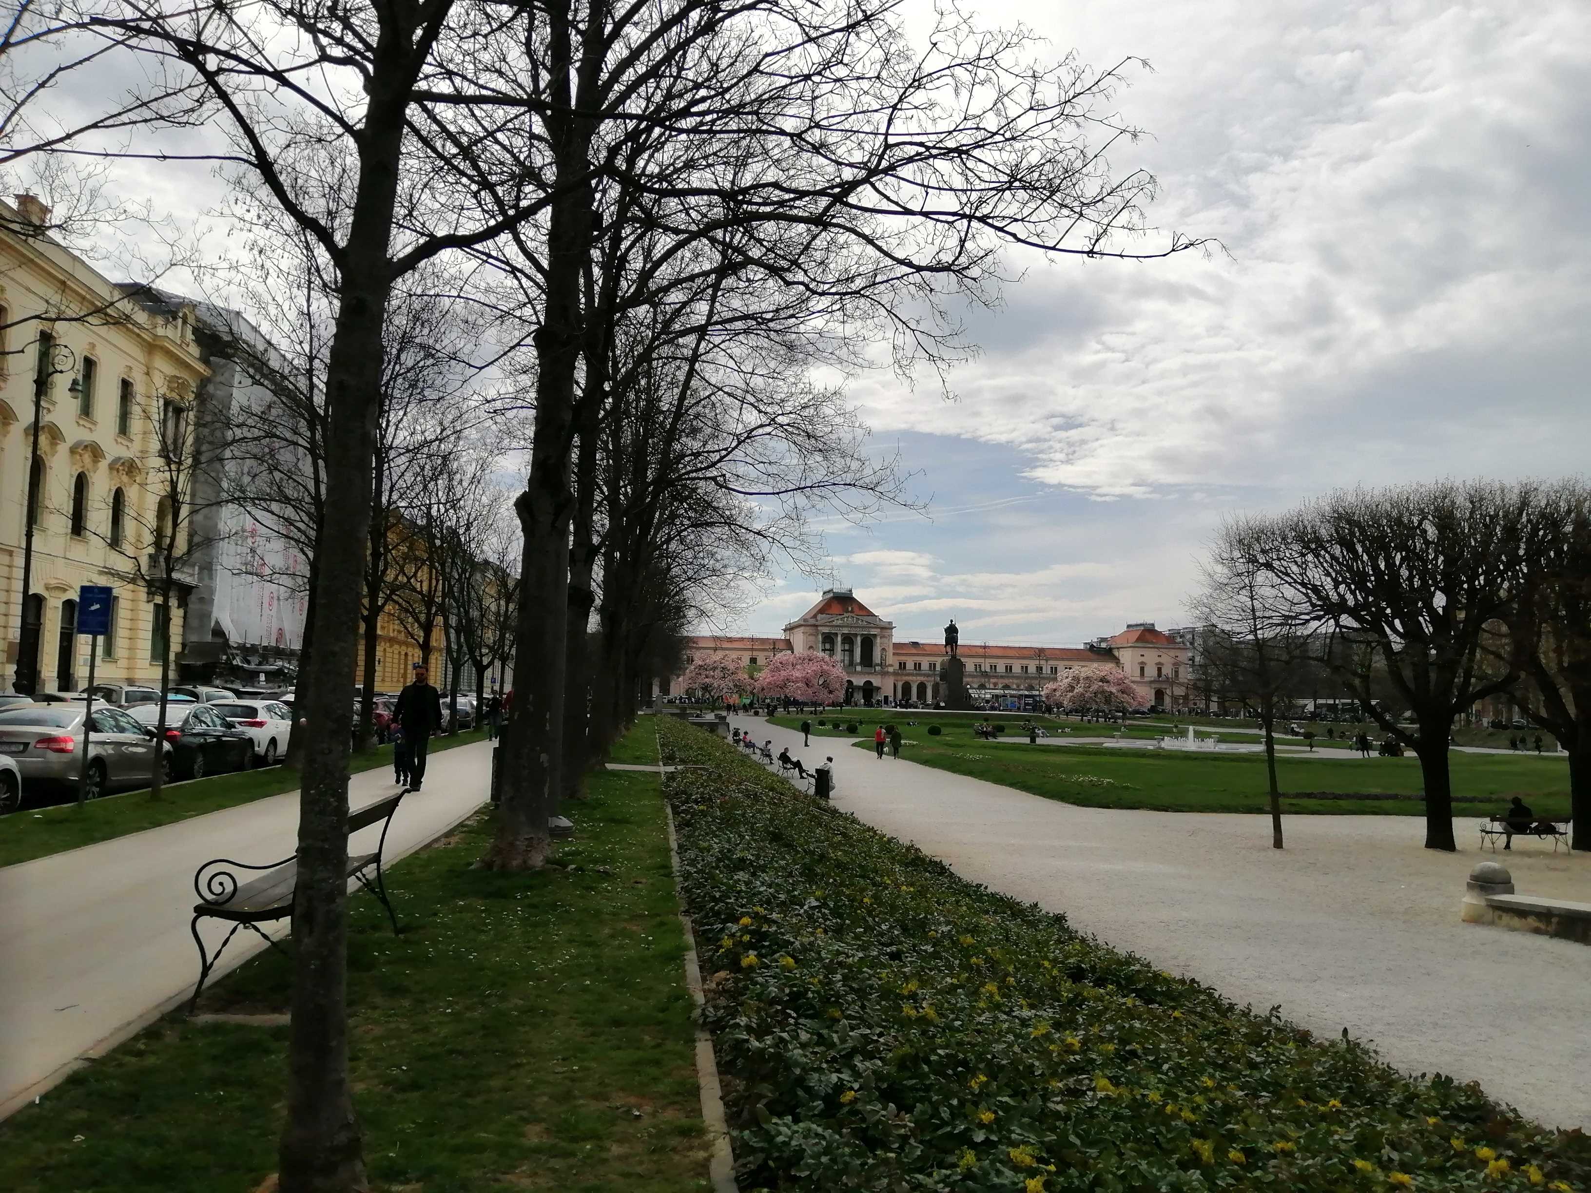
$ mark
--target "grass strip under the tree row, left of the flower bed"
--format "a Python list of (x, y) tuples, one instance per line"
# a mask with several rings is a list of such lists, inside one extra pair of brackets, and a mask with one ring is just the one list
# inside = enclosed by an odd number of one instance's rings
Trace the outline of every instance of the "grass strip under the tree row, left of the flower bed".
[[(654, 730), (641, 722), (657, 757)], [(473, 870), (488, 813), (353, 897), (355, 1102), (372, 1190), (705, 1190), (684, 937), (655, 775), (592, 778), (533, 875)], [(200, 1010), (280, 1012), (274, 953)], [(0, 1123), (8, 1193), (247, 1193), (275, 1171), (285, 1028), (170, 1015)]]

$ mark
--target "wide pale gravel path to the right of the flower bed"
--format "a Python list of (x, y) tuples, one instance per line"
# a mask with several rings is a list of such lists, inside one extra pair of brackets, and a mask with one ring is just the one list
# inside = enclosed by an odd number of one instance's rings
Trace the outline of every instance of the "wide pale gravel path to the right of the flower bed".
[[(811, 765), (835, 759), (835, 805), (964, 878), (1064, 911), (1072, 926), (1316, 1032), (1346, 1026), (1410, 1072), (1480, 1080), (1558, 1126), (1591, 1129), (1591, 948), (1459, 921), (1480, 861), (1421, 848), (1410, 816), (1265, 816), (1079, 808), (840, 738), (741, 719)], [(1488, 859), (1491, 851), (1484, 854)], [(1519, 894), (1591, 900), (1591, 854), (1499, 854)]]

